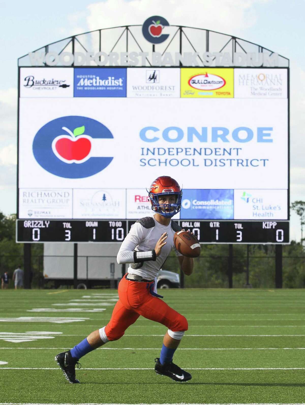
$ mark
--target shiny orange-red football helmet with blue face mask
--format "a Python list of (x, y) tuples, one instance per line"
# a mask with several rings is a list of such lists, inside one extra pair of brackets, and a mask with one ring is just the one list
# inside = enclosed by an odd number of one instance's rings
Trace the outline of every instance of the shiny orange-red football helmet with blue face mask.
[[(174, 194), (176, 196), (175, 204), (160, 204), (159, 196), (164, 194)], [(172, 217), (181, 208), (182, 190), (176, 180), (169, 176), (160, 176), (153, 183), (148, 191), (152, 210), (163, 215), (163, 217)]]

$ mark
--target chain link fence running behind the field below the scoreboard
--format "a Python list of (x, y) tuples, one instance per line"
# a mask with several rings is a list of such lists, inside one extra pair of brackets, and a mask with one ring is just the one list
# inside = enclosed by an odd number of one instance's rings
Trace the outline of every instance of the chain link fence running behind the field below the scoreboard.
[[(110, 262), (115, 263), (115, 278), (119, 279), (122, 268), (116, 257), (79, 256), (78, 278), (94, 279), (101, 272), (110, 273)], [(228, 288), (229, 256), (200, 256), (194, 259), (194, 271), (184, 277), (185, 288)], [(58, 266), (63, 277), (73, 278), (73, 256), (32, 256), (32, 288), (52, 288), (43, 277), (44, 265)], [(0, 256), (0, 273), (8, 271), (13, 276), (14, 269), (23, 268), (23, 256)], [(178, 260), (169, 256), (163, 265), (164, 270), (180, 273)], [(233, 288), (275, 288), (275, 256), (249, 256), (249, 285), (247, 285), (247, 256), (233, 255)], [(108, 274), (107, 273), (107, 274)], [(110, 274), (107, 276), (110, 277)], [(10, 283), (10, 288), (13, 283)], [(283, 256), (283, 288), (305, 288), (305, 256)]]

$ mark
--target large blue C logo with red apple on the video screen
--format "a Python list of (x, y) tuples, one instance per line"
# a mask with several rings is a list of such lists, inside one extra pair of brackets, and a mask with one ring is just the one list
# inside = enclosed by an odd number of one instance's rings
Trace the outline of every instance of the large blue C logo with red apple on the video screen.
[(37, 131), (32, 143), (33, 156), (52, 175), (84, 179), (100, 173), (114, 160), (113, 153), (104, 156), (103, 150), (96, 147), (103, 139), (114, 136), (96, 119), (80, 115), (58, 117)]

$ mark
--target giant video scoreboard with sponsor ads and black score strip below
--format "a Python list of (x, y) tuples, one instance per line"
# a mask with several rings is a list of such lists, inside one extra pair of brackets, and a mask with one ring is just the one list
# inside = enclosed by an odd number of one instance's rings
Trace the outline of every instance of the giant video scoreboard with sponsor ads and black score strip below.
[(289, 243), (288, 66), (146, 59), (19, 66), (16, 241), (121, 243), (170, 176), (200, 243)]

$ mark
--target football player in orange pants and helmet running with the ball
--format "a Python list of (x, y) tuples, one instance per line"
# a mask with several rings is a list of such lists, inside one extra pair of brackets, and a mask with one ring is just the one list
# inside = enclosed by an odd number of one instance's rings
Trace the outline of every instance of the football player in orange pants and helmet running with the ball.
[(183, 273), (190, 275), (193, 272), (193, 259), (182, 256), (174, 246), (174, 234), (181, 228), (171, 218), (180, 211), (182, 191), (176, 180), (161, 176), (151, 184), (148, 196), (153, 217), (138, 220), (118, 252), (118, 264), (129, 263), (129, 267), (118, 285), (119, 300), (110, 322), (90, 333), (73, 349), (55, 356), (70, 383), (79, 383), (75, 377), (75, 365), (80, 367), (79, 358), (109, 341), (120, 339), (140, 315), (168, 328), (160, 357), (155, 359), (155, 372), (179, 382), (191, 379), (190, 373), (172, 362), (188, 328), (187, 320), (162, 301), (160, 298), (163, 297), (157, 294), (156, 289), (158, 272), (172, 249), (178, 256)]

